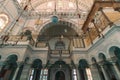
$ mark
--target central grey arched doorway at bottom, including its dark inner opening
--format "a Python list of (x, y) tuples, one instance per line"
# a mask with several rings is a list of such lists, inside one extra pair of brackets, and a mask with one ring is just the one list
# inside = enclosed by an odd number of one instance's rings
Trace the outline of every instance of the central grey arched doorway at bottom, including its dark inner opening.
[(49, 68), (48, 80), (72, 80), (70, 66), (64, 61), (56, 61)]

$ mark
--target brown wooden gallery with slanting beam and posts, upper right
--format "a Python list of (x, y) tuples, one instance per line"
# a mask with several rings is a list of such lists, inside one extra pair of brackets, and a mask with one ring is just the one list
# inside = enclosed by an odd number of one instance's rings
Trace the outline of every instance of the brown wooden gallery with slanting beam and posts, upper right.
[(105, 7), (113, 8), (114, 10), (120, 10), (120, 1), (116, 0), (95, 0), (94, 5), (88, 14), (82, 30), (85, 33), (84, 42), (86, 46), (93, 44), (93, 41), (97, 37), (104, 37), (102, 32), (108, 26), (114, 25), (114, 22), (109, 19), (106, 13), (103, 11)]

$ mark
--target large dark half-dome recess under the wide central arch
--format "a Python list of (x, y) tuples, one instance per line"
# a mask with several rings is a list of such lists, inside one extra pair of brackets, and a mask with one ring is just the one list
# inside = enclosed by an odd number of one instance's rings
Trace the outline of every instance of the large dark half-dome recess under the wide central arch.
[(78, 32), (75, 29), (75, 25), (73, 25), (72, 23), (65, 21), (59, 21), (57, 23), (51, 22), (41, 29), (37, 40), (44, 41), (61, 36), (70, 38), (76, 35), (78, 35)]

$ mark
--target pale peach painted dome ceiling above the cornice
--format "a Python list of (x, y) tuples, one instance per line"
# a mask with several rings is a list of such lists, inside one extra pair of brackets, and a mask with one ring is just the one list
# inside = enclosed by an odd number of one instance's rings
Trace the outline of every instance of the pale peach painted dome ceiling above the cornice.
[(89, 12), (93, 0), (17, 0), (21, 7), (26, 4), (33, 12)]

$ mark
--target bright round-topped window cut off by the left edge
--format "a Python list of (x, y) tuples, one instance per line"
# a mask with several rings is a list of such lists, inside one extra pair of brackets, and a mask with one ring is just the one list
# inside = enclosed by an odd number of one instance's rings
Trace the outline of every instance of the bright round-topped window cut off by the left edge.
[(0, 32), (6, 27), (9, 22), (9, 18), (6, 14), (0, 14)]

